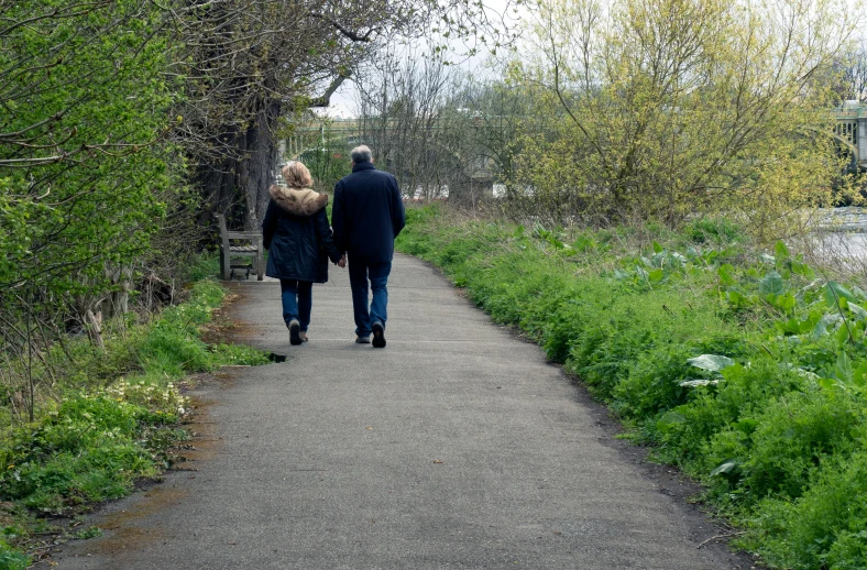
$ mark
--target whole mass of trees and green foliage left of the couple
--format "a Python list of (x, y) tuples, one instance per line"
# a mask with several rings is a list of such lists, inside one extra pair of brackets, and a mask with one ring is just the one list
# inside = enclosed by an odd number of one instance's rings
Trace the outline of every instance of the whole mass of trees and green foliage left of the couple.
[(475, 0), (0, 0), (0, 358), (32, 370), (80, 327), (99, 344), (130, 292), (174, 292), (215, 213), (257, 228), (293, 116), (395, 37), (469, 36), (485, 14)]

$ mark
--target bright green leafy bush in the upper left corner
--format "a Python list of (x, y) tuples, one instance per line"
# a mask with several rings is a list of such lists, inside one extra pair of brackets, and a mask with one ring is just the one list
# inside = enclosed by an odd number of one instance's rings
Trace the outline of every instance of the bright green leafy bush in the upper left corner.
[(146, 251), (179, 185), (156, 144), (175, 97), (158, 9), (20, 0), (0, 12), (3, 131), (18, 133), (0, 141), (0, 307), (14, 319), (45, 296), (105, 294), (106, 265)]

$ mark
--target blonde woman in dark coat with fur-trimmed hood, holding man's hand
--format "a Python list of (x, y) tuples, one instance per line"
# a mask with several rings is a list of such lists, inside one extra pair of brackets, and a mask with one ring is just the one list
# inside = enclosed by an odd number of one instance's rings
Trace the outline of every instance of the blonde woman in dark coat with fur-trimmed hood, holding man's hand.
[(286, 188), (272, 186), (271, 202), (262, 222), (268, 251), (265, 274), (279, 279), (283, 320), (289, 342), (307, 339), (312, 309), (312, 285), (328, 281), (328, 257), (340, 262), (328, 224), (328, 195), (312, 190), (307, 167), (293, 161), (283, 167)]

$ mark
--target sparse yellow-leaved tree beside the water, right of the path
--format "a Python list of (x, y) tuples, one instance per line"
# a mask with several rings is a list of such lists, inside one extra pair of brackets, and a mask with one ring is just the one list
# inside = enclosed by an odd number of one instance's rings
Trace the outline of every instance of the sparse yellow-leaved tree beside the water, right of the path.
[[(740, 212), (761, 238), (842, 184), (827, 0), (546, 0), (508, 81), (534, 101), (509, 193), (567, 217)], [(523, 199), (522, 199), (523, 198)]]

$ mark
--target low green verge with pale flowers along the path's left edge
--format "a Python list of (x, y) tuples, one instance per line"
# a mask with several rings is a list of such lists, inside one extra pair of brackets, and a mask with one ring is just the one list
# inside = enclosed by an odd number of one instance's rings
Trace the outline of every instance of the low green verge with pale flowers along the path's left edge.
[(106, 335), (103, 350), (79, 339), (47, 353), (54, 397), (42, 403), (35, 423), (0, 432), (0, 569), (26, 568), (22, 550), (33, 551), (37, 537), (68, 535), (54, 520), (127, 495), (171, 467), (171, 448), (188, 438), (189, 403), (178, 381), (226, 364), (268, 362), (259, 350), (201, 339), (224, 295), (217, 283), (200, 281), (186, 302), (151, 322)]

